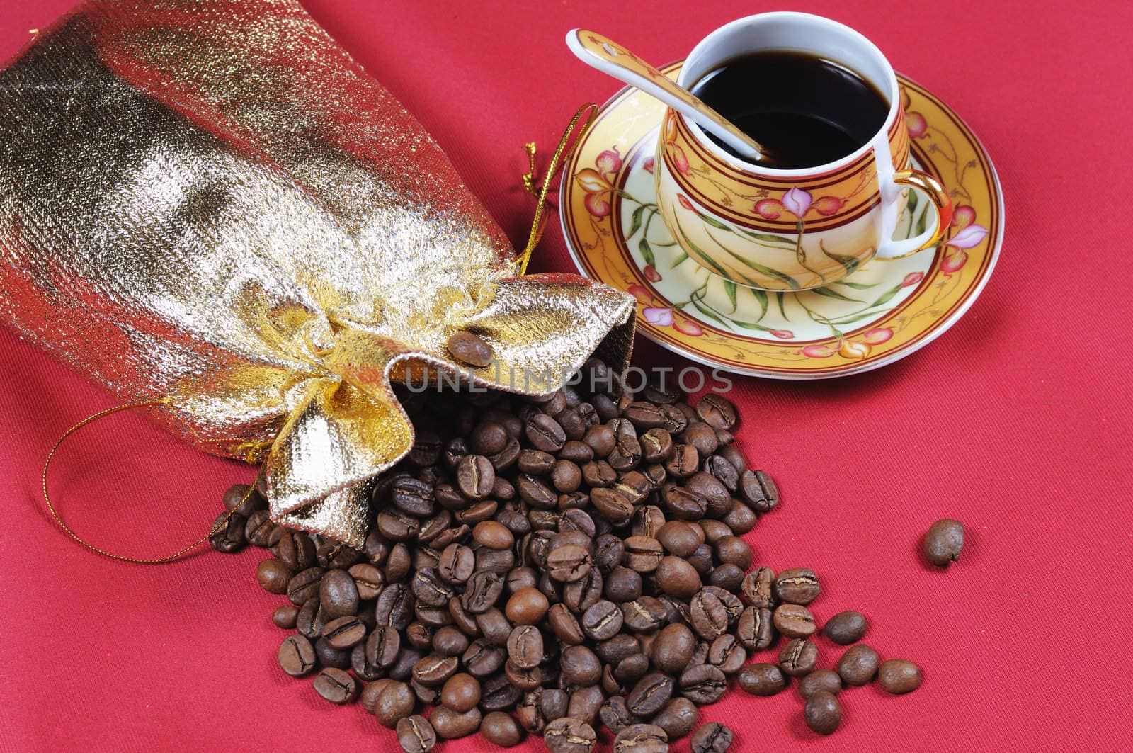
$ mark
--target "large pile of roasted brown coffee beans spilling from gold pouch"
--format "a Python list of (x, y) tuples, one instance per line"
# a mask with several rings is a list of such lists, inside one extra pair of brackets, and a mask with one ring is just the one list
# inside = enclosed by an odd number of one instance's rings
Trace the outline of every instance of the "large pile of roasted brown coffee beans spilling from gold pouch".
[[(274, 525), (263, 490), (241, 485), (211, 542), (271, 549), (256, 576), (287, 595), (272, 619), (296, 631), (280, 667), (315, 675), (332, 703), (360, 699), (408, 753), (477, 730), (588, 753), (603, 726), (616, 753), (690, 733), (693, 753), (723, 753), (731, 730), (693, 728), (731, 677), (756, 695), (802, 678), (807, 724), (823, 733), (838, 724), (843, 682), (919, 684), (913, 665), (879, 667), (862, 645), (837, 672), (816, 670), (806, 604), (818, 577), (749, 572), (740, 536), (780, 494), (734, 447), (735, 407), (719, 395), (693, 406), (664, 384), (633, 391), (591, 359), (579, 387), (544, 399), (400, 397), (417, 439), (375, 483), (361, 551)], [(857, 612), (825, 626), (840, 643), (864, 629)], [(778, 634), (776, 662), (747, 665)]]

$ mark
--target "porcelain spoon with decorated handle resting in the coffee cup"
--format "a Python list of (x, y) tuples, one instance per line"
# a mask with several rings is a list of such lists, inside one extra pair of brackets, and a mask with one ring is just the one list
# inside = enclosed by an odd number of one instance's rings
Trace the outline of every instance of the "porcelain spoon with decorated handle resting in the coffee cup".
[(588, 66), (634, 86), (692, 118), (743, 158), (758, 160), (767, 151), (688, 90), (678, 86), (665, 74), (610, 37), (574, 28), (566, 34), (566, 46)]

